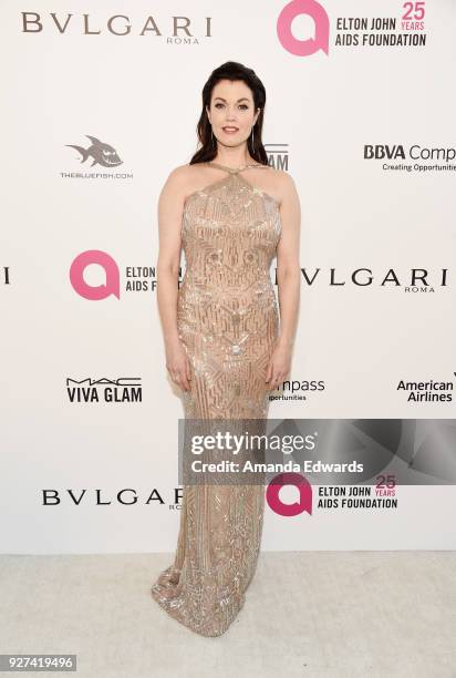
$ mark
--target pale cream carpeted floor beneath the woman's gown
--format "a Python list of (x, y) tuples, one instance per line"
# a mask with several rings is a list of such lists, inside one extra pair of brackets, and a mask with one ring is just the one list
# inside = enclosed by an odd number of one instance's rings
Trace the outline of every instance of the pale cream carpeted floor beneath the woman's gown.
[(0, 654), (76, 654), (80, 678), (456, 678), (454, 552), (262, 552), (217, 638), (149, 595), (170, 562), (0, 556)]

